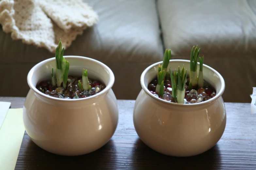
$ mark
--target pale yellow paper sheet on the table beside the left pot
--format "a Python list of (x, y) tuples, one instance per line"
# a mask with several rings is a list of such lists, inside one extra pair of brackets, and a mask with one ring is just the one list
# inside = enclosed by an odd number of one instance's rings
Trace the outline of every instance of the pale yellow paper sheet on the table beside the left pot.
[(9, 109), (0, 129), (0, 169), (15, 168), (25, 128), (22, 108)]

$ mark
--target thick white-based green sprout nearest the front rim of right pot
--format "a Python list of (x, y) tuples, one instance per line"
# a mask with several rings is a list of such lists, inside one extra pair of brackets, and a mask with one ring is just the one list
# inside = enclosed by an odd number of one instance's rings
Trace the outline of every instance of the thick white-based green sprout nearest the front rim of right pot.
[(187, 77), (187, 70), (185, 70), (184, 65), (180, 72), (180, 66), (178, 67), (178, 92), (177, 92), (177, 102), (184, 103), (185, 97), (185, 82)]

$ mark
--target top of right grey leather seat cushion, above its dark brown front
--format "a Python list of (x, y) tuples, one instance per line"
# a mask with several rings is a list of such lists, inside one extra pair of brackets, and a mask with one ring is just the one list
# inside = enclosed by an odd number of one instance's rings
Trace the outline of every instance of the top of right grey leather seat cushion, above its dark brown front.
[(255, 9), (246, 0), (159, 0), (164, 47), (174, 56), (196, 45), (207, 57), (256, 54)]

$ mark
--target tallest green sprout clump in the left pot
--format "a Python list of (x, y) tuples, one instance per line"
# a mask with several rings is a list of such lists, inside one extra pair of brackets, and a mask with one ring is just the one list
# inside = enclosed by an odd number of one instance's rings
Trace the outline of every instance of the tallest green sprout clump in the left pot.
[(56, 59), (56, 80), (57, 87), (61, 86), (63, 82), (63, 88), (66, 89), (69, 73), (69, 62), (63, 57), (64, 48), (62, 48), (61, 40), (56, 48), (55, 59)]

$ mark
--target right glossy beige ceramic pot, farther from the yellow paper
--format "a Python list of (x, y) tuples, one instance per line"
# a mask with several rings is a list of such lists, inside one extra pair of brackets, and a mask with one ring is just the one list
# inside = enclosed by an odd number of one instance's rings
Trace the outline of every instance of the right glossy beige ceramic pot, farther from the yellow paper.
[[(224, 79), (216, 70), (203, 65), (204, 79), (216, 89), (216, 96), (195, 104), (170, 103), (155, 97), (147, 89), (157, 75), (158, 64), (162, 62), (152, 64), (141, 75), (142, 90), (133, 112), (138, 136), (147, 146), (165, 155), (193, 156), (211, 149), (226, 126), (226, 110), (221, 97), (225, 89)], [(168, 70), (183, 64), (189, 75), (188, 60), (170, 60)]]

